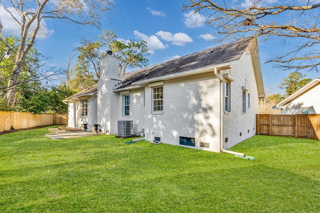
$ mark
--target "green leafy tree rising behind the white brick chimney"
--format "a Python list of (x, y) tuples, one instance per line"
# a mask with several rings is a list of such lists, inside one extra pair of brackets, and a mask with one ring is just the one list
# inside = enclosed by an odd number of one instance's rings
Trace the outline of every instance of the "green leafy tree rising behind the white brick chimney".
[(126, 68), (145, 67), (148, 65), (149, 55), (145, 41), (119, 40), (113, 30), (104, 30), (99, 35), (98, 41), (82, 39), (80, 46), (75, 48), (77, 52), (76, 64), (70, 68), (71, 59), (68, 62), (67, 83), (70, 89), (81, 91), (97, 83), (99, 79), (99, 59), (111, 50), (119, 63), (119, 75), (125, 73)]

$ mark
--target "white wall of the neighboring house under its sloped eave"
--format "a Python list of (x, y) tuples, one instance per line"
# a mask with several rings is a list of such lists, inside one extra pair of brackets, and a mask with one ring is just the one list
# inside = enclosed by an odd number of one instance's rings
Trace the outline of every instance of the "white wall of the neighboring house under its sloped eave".
[(302, 94), (281, 110), (281, 114), (302, 114), (301, 108), (309, 108), (309, 114), (320, 113), (320, 85)]

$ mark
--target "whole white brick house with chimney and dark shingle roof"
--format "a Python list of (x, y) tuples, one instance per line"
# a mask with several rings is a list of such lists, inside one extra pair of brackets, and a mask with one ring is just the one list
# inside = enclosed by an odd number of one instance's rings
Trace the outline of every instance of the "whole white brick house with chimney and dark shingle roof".
[(118, 133), (132, 121), (145, 140), (225, 151), (255, 135), (264, 96), (256, 41), (235, 41), (118, 75), (111, 54), (100, 59), (96, 85), (64, 100), (68, 126), (87, 123)]

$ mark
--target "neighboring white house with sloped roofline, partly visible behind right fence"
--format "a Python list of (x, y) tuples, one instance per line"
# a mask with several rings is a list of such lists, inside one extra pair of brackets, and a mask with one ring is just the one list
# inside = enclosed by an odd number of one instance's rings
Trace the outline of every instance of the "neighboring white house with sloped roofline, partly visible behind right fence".
[(281, 109), (281, 114), (285, 115), (319, 114), (320, 78), (314, 78), (272, 108)]

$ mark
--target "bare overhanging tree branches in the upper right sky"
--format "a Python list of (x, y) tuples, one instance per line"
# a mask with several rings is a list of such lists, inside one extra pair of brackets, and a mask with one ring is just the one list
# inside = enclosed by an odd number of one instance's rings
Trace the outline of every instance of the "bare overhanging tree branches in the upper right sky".
[[(262, 41), (276, 36), (283, 44), (289, 44), (289, 49), (267, 62), (275, 62), (274, 66), (280, 69), (318, 70), (320, 3), (278, 0), (268, 5), (265, 0), (247, 0), (249, 4), (234, 5), (234, 2), (237, 1), (187, 0), (183, 8), (193, 15), (201, 14), (204, 23), (220, 35), (218, 41), (243, 38)], [(287, 5), (288, 2), (292, 5)]]

